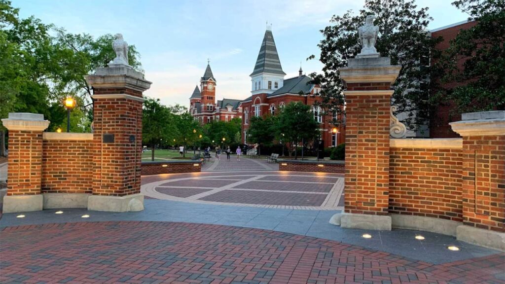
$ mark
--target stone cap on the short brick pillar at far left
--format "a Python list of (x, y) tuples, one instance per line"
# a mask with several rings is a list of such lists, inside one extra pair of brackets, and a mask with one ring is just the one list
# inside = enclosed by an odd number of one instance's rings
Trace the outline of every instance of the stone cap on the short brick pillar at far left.
[(9, 113), (9, 118), (2, 119), (2, 123), (9, 130), (44, 131), (49, 126), (43, 114), (21, 112)]

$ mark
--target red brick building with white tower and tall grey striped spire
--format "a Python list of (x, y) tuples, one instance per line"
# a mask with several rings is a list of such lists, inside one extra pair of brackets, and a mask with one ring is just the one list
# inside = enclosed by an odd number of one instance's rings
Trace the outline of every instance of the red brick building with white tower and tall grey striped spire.
[[(279, 109), (291, 102), (300, 102), (313, 107), (314, 119), (321, 123), (321, 139), (324, 147), (334, 147), (345, 141), (344, 127), (333, 133), (331, 112), (314, 105), (321, 98), (314, 96), (319, 85), (310, 83), (311, 78), (303, 75), (300, 67), (297, 77), (284, 79), (286, 73), (275, 46), (272, 31), (267, 29), (251, 77), (251, 96), (240, 103), (242, 111), (242, 143), (247, 144), (247, 129), (251, 116), (275, 115)], [(336, 114), (335, 114), (336, 115)]]

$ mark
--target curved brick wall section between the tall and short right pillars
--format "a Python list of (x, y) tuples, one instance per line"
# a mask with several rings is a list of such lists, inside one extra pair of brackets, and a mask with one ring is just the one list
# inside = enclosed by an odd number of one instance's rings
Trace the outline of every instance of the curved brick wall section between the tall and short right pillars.
[(462, 221), (461, 174), (461, 149), (391, 148), (389, 213)]

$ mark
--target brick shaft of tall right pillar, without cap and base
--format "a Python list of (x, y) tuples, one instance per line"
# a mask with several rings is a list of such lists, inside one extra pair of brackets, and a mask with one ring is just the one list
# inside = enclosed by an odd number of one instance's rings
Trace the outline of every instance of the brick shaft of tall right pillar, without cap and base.
[(381, 91), (346, 93), (345, 212), (387, 215), (392, 91), (382, 82), (347, 83), (348, 91), (362, 88)]

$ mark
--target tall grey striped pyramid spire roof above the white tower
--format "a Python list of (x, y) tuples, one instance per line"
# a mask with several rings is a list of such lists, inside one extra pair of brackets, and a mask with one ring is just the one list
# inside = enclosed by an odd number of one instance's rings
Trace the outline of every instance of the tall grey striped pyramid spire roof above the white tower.
[(270, 30), (265, 31), (265, 36), (263, 37), (263, 42), (261, 43), (260, 53), (258, 54), (254, 71), (252, 71), (249, 76), (263, 72), (286, 75), (286, 73), (282, 71), (279, 55), (277, 54), (277, 48), (275, 47), (274, 36)]

